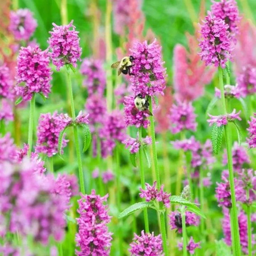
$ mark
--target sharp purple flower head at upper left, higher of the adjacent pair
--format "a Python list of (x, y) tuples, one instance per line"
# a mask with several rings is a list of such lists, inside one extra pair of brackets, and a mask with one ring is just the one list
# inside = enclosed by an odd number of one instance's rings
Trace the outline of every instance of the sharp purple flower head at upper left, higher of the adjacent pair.
[(49, 33), (51, 34), (48, 40), (50, 57), (57, 70), (59, 71), (65, 64), (71, 64), (76, 68), (77, 61), (81, 61), (82, 48), (79, 45), (79, 32), (75, 30), (73, 20), (69, 25), (57, 26), (53, 23), (53, 31)]

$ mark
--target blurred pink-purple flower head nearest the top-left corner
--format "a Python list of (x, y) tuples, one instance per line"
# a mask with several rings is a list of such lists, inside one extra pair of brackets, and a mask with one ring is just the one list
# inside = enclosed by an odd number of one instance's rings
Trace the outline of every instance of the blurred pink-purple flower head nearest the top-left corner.
[(37, 27), (37, 21), (28, 9), (18, 9), (10, 12), (9, 30), (16, 40), (28, 41)]

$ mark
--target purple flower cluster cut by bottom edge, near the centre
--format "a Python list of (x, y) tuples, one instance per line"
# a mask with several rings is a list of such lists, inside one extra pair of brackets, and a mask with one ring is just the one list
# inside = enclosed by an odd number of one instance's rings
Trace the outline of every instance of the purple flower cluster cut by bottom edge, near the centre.
[(163, 256), (161, 235), (154, 236), (154, 232), (152, 232), (152, 234), (145, 234), (144, 230), (142, 230), (141, 236), (134, 234), (134, 239), (130, 247), (129, 252), (132, 256)]

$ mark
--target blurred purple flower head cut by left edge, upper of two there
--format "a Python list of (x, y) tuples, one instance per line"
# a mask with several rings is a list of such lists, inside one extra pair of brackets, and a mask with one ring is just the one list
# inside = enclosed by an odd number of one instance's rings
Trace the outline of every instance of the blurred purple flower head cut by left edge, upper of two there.
[(0, 97), (8, 98), (9, 100), (14, 97), (13, 81), (10, 70), (5, 64), (0, 66)]

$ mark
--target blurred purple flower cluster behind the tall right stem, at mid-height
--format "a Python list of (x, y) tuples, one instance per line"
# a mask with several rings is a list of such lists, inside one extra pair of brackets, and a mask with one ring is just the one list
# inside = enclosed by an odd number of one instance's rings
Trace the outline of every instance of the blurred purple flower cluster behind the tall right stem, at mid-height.
[[(249, 155), (247, 154), (246, 149), (243, 146), (239, 146), (238, 142), (234, 143), (232, 149), (232, 162), (235, 171), (241, 171), (242, 168), (245, 168), (250, 164)], [(225, 152), (223, 156), (223, 164), (226, 165), (228, 163), (227, 154)]]

